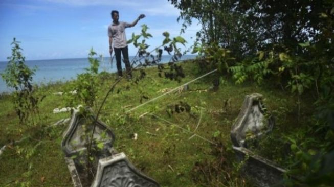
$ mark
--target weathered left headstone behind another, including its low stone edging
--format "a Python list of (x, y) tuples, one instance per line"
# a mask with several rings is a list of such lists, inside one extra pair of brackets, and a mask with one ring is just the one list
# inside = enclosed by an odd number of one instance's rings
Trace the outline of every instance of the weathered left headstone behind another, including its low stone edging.
[[(80, 111), (81, 110), (81, 111)], [(82, 187), (80, 175), (82, 175), (82, 161), (85, 161), (86, 147), (93, 130), (95, 116), (89, 108), (78, 108), (72, 113), (68, 129), (63, 134), (61, 148), (65, 153), (65, 161), (71, 173), (72, 182), (75, 187)], [(100, 159), (113, 154), (113, 143), (115, 135), (103, 122), (96, 122), (93, 138), (96, 139), (92, 147), (98, 150), (95, 158)], [(102, 143), (103, 149), (97, 149), (96, 143)], [(97, 165), (95, 160), (95, 165)], [(96, 168), (97, 166), (95, 166)]]

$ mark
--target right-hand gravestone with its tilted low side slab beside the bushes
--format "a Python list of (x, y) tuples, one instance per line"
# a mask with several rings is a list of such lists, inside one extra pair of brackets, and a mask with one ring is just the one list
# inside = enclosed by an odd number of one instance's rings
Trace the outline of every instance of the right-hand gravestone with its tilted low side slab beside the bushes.
[(247, 159), (243, 171), (250, 176), (257, 186), (281, 186), (284, 169), (277, 167), (272, 161), (254, 154), (247, 147), (247, 142), (270, 132), (274, 126), (274, 118), (262, 104), (262, 95), (247, 95), (240, 113), (232, 126), (231, 139), (233, 150), (240, 161)]

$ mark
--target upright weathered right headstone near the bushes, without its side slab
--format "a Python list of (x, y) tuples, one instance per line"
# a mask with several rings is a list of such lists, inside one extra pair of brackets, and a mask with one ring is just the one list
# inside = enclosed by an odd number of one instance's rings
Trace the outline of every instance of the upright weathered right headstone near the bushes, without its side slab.
[(231, 130), (234, 146), (247, 147), (247, 136), (254, 138), (272, 130), (274, 118), (265, 112), (261, 98), (262, 95), (253, 93), (243, 100), (241, 111)]

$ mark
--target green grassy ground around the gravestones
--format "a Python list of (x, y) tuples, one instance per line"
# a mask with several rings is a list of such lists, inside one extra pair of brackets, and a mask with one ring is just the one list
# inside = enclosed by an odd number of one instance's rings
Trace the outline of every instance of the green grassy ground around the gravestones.
[[(155, 98), (204, 74), (199, 72), (192, 62), (183, 66), (186, 78), (181, 83), (160, 78), (155, 68), (147, 68), (147, 76), (139, 84), (124, 80), (116, 87), (116, 90), (120, 89), (119, 93), (108, 97), (100, 120), (113, 129), (116, 135), (116, 150), (124, 152), (133, 165), (162, 186), (249, 186), (250, 183), (237, 172), (230, 140), (231, 126), (244, 96), (254, 92), (261, 93), (269, 111), (277, 114), (282, 114), (280, 108), (286, 108), (287, 111), (283, 112), (284, 118), (278, 123), (279, 131), (283, 132), (296, 126), (292, 120), (296, 116), (295, 99), (271, 85), (234, 85), (231, 80), (223, 81), (224, 84), (221, 84), (217, 91), (211, 91), (208, 88), (212, 86), (215, 73), (190, 84), (190, 90), (170, 93), (126, 113), (141, 104), (143, 95), (149, 99)], [(139, 72), (135, 72), (136, 74)], [(111, 74), (101, 77), (98, 105), (114, 80), (115, 75)], [(11, 96), (1, 97), (0, 146), (27, 135), (31, 137), (9, 147), (0, 156), (0, 186), (20, 186), (21, 183), (29, 182), (31, 186), (72, 185), (60, 148), (62, 133), (67, 124), (45, 128), (70, 117), (67, 112), (52, 113), (54, 108), (65, 106), (64, 96), (52, 93), (69, 89), (70, 84), (56, 83), (40, 87), (39, 93), (46, 95), (40, 105), (42, 128), (28, 129), (17, 125), (18, 119), (12, 108)], [(145, 101), (147, 99), (142, 99), (142, 102)], [(168, 114), (167, 110), (174, 110), (175, 105), (180, 102), (187, 103), (191, 112), (174, 111), (173, 114)], [(194, 131), (197, 126), (196, 134), (207, 141), (196, 136), (190, 138), (192, 133), (189, 131)], [(136, 141), (131, 138), (133, 133), (138, 134)], [(27, 147), (34, 151), (27, 153), (24, 149)], [(214, 166), (215, 163), (220, 164), (219, 170)]]

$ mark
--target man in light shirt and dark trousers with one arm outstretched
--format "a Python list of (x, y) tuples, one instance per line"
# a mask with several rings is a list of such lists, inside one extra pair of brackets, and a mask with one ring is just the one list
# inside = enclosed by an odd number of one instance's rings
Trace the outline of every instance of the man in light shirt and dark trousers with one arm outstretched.
[(125, 28), (133, 27), (137, 24), (139, 19), (142, 19), (145, 17), (144, 14), (140, 14), (140, 16), (132, 22), (132, 24), (129, 24), (127, 22), (118, 21), (119, 14), (117, 10), (113, 10), (112, 13), (113, 22), (108, 27), (108, 36), (109, 36), (109, 53), (110, 56), (113, 53), (113, 41), (114, 41), (114, 51), (116, 56), (116, 66), (118, 71), (118, 76), (122, 77), (122, 64), (121, 64), (121, 53), (124, 58), (125, 63), (125, 69), (126, 73), (128, 73), (128, 78), (131, 78), (131, 65), (129, 61), (129, 53), (127, 48), (127, 41), (125, 36)]

